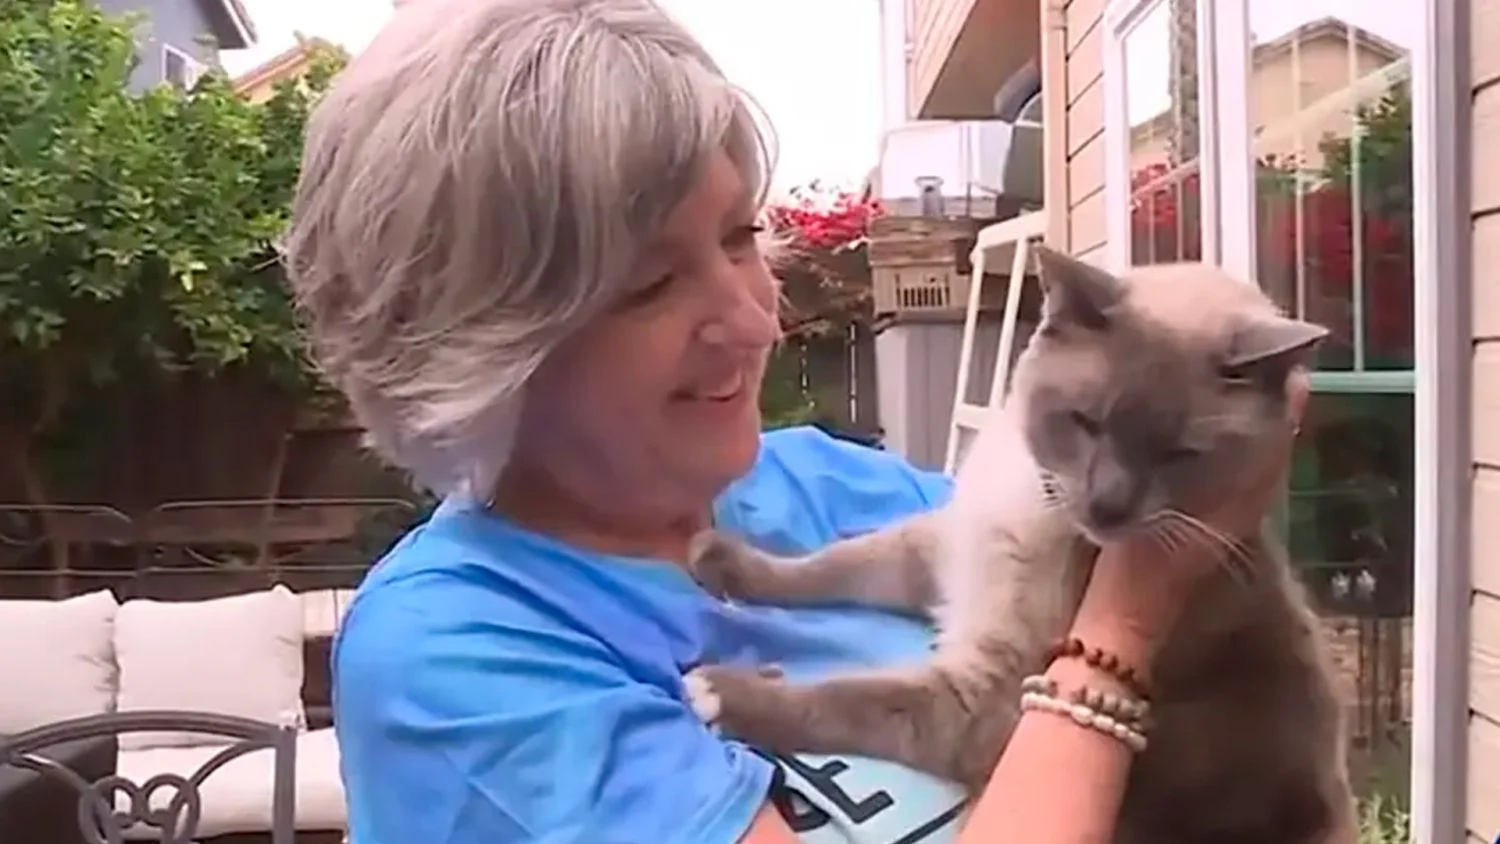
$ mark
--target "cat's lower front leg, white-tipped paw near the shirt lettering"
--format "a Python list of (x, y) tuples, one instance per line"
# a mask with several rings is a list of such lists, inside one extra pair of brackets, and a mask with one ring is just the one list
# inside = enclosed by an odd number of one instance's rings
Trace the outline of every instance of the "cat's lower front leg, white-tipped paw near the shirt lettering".
[(684, 678), (700, 718), (760, 750), (885, 759), (970, 790), (982, 789), (1010, 739), (1018, 682), (940, 666), (808, 685), (734, 666)]

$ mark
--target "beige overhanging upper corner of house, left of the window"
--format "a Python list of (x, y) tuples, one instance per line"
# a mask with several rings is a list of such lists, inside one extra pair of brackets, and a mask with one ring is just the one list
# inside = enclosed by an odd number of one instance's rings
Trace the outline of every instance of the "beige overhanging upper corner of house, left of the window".
[(994, 94), (1041, 52), (1040, 0), (908, 0), (908, 102), (921, 120), (994, 115)]

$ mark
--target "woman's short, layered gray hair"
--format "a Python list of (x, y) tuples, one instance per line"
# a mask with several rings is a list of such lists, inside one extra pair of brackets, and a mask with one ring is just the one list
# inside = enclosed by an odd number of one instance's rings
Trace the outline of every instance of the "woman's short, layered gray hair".
[(764, 201), (750, 100), (651, 0), (404, 4), (309, 118), (285, 243), (375, 451), (488, 493), (526, 379), (716, 150)]

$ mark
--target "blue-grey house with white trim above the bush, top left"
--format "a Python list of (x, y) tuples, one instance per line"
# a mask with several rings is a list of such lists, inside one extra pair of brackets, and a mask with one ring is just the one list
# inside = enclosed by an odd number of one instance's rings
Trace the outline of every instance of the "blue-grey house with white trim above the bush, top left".
[(136, 43), (140, 64), (130, 82), (192, 87), (218, 61), (220, 49), (255, 43), (255, 24), (242, 0), (96, 0), (116, 15), (144, 18)]

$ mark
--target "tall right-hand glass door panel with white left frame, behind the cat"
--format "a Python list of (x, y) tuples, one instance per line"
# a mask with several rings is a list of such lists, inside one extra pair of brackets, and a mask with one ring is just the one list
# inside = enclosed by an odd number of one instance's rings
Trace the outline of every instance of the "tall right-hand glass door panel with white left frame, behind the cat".
[(1416, 282), (1406, 39), (1420, 31), (1422, 6), (1218, 7), (1218, 102), (1244, 103), (1218, 123), (1226, 262), (1330, 330), (1293, 463), (1288, 547), (1356, 702), (1356, 777), (1400, 802), (1412, 712)]

